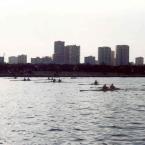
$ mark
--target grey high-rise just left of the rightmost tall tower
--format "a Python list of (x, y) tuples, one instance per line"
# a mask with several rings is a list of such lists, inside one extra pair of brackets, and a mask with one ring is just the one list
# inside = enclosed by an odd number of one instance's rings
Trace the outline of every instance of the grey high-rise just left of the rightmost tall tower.
[(98, 48), (98, 63), (100, 65), (111, 65), (111, 48), (110, 47)]

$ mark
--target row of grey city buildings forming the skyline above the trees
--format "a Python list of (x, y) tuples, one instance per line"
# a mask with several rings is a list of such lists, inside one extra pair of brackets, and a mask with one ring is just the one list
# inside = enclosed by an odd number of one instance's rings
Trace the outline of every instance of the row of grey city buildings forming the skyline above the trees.
[[(19, 59), (20, 58), (20, 59)], [(80, 62), (80, 46), (77, 45), (65, 45), (65, 41), (54, 42), (54, 53), (52, 56), (36, 56), (31, 57), (31, 61), (27, 60), (27, 54), (21, 54), (18, 56), (9, 56), (8, 63), (10, 64), (99, 64), (99, 65), (144, 65), (144, 57), (136, 56), (134, 62), (130, 61), (129, 45), (116, 45), (116, 51), (112, 50), (108, 46), (98, 47), (98, 57), (85, 56), (84, 61)], [(1, 57), (4, 62), (4, 57)], [(6, 62), (6, 61), (5, 61)]]

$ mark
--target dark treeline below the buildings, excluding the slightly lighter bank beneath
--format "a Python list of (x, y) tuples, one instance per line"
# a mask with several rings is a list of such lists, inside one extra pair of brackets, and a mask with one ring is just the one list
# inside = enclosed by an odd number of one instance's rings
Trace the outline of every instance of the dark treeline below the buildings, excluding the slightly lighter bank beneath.
[(6, 74), (32, 74), (37, 71), (51, 72), (96, 72), (102, 74), (140, 74), (145, 75), (145, 66), (106, 66), (106, 65), (34, 65), (34, 64), (0, 64), (0, 73)]

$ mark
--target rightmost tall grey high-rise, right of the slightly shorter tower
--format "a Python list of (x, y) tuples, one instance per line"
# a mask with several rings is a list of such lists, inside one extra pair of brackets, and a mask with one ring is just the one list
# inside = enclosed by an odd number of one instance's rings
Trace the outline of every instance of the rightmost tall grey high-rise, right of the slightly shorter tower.
[(128, 65), (129, 64), (129, 46), (117, 45), (116, 46), (116, 65)]

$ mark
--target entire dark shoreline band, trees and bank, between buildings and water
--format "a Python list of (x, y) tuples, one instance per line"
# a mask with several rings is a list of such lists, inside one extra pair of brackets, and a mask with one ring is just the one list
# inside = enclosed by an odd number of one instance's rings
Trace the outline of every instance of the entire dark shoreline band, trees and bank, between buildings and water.
[(145, 77), (145, 65), (0, 64), (0, 77)]

